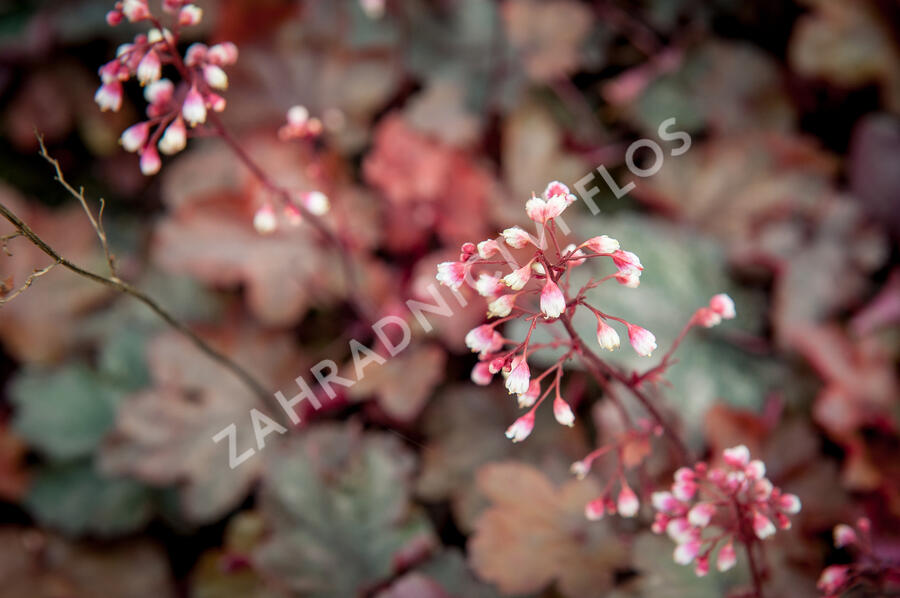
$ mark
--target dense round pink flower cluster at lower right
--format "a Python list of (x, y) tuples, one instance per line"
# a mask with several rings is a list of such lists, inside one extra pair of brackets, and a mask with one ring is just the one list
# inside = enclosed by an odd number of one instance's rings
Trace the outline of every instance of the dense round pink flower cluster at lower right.
[(746, 446), (727, 449), (722, 457), (723, 467), (698, 463), (679, 469), (671, 490), (652, 497), (653, 531), (667, 533), (677, 544), (675, 562), (695, 563), (701, 577), (717, 546), (716, 567), (727, 571), (736, 561), (735, 541), (749, 546), (765, 540), (778, 528), (790, 528), (788, 516), (800, 511), (800, 499), (773, 486), (765, 464), (751, 460)]

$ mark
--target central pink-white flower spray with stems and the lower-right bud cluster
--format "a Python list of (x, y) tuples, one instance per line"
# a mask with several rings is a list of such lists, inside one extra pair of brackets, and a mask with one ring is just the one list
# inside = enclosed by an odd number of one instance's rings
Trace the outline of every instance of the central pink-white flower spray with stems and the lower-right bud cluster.
[[(635, 465), (634, 459), (625, 458), (627, 445), (649, 442), (653, 436), (665, 433), (679, 449), (682, 462), (687, 455), (670, 424), (641, 388), (646, 382), (658, 380), (671, 365), (673, 352), (692, 327), (711, 327), (723, 319), (734, 318), (735, 305), (728, 295), (715, 295), (709, 305), (692, 315), (660, 363), (644, 373), (626, 374), (607, 364), (578, 336), (572, 317), (577, 310), (587, 310), (596, 318), (600, 349), (615, 351), (619, 348), (621, 339), (616, 329), (619, 327), (620, 330), (624, 328), (628, 342), (638, 355), (650, 357), (657, 348), (652, 332), (606, 313), (588, 298), (589, 292), (603, 283), (614, 281), (637, 288), (644, 267), (637, 255), (606, 235), (563, 247), (556, 219), (574, 201), (575, 196), (564, 184), (550, 183), (541, 197), (532, 197), (525, 204), (526, 214), (538, 225), (537, 238), (514, 226), (504, 230), (496, 240), (466, 243), (458, 261), (438, 265), (437, 280), (454, 290), (468, 284), (487, 301), (487, 316), (493, 322), (478, 326), (466, 335), (466, 345), (479, 357), (471, 377), (476, 384), (487, 385), (496, 374), (501, 374), (507, 391), (516, 395), (519, 407), (528, 410), (506, 431), (506, 436), (513, 442), (528, 438), (535, 425), (536, 410), (550, 396), (553, 397), (556, 421), (564, 426), (573, 425), (575, 415), (562, 395), (563, 366), (575, 357), (585, 363), (610, 400), (619, 407), (627, 429), (615, 442), (599, 447), (572, 465), (572, 472), (583, 477), (598, 458), (614, 455), (617, 460), (615, 473), (604, 492), (586, 505), (585, 514), (589, 519), (616, 512), (623, 517), (634, 517), (640, 510), (640, 500), (625, 476), (626, 469)], [(509, 251), (526, 248), (530, 254), (524, 262), (516, 262)], [(615, 271), (599, 278), (592, 277), (580, 288), (573, 288), (572, 270), (596, 259), (609, 260)], [(512, 272), (502, 277), (496, 275), (494, 269), (498, 264), (510, 264)], [(528, 326), (521, 341), (507, 338), (500, 330), (502, 324), (516, 319), (523, 320)], [(555, 340), (531, 342), (537, 326), (556, 324), (561, 324), (563, 330), (552, 331)], [(562, 349), (563, 352), (549, 368), (534, 372), (529, 357), (542, 349)], [(649, 412), (651, 419), (631, 421), (609, 384), (610, 380), (624, 384)], [(717, 546), (721, 545), (717, 565), (725, 571), (736, 561), (734, 543), (743, 543), (748, 549), (758, 588), (759, 573), (752, 562), (753, 545), (771, 536), (776, 525), (782, 529), (789, 527), (788, 515), (800, 510), (800, 501), (774, 487), (765, 478), (765, 465), (758, 460), (751, 461), (746, 447), (725, 451), (724, 460), (724, 468), (698, 463), (692, 468), (679, 469), (672, 491), (653, 496), (653, 506), (659, 511), (653, 527), (657, 532), (667, 531), (678, 544), (675, 561), (683, 565), (695, 562), (696, 573), (701, 576), (708, 572), (710, 553)], [(612, 493), (616, 486), (618, 495), (614, 499)], [(712, 526), (720, 531), (705, 534)]]

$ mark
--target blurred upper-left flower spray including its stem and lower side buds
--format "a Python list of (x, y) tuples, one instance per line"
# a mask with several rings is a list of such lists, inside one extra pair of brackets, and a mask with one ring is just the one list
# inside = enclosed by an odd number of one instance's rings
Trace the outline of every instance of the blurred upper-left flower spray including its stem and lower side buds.
[[(183, 27), (196, 25), (203, 11), (185, 0), (163, 0), (163, 12), (171, 16), (170, 27), (164, 27), (150, 10), (147, 0), (122, 0), (106, 15), (112, 26), (123, 20), (132, 23), (146, 21), (153, 25), (147, 33), (135, 36), (132, 43), (119, 46), (116, 57), (100, 67), (102, 84), (94, 95), (101, 110), (117, 111), (122, 106), (122, 84), (136, 78), (144, 87), (147, 101), (146, 120), (131, 125), (122, 133), (120, 142), (125, 150), (140, 156), (141, 172), (154, 175), (162, 161), (160, 153), (177, 154), (187, 145), (191, 135), (218, 135), (228, 143), (250, 171), (273, 192), (282, 204), (285, 221), (299, 224), (311, 217), (313, 224), (325, 232), (317, 217), (328, 212), (328, 198), (320, 191), (291, 191), (274, 183), (225, 130), (217, 114), (225, 110), (226, 101), (219, 92), (228, 88), (224, 67), (237, 62), (238, 48), (231, 42), (213, 46), (194, 43), (184, 55), (178, 51)], [(176, 84), (164, 78), (163, 68), (171, 66), (180, 77)], [(204, 127), (211, 125), (211, 130)], [(287, 122), (279, 130), (282, 140), (317, 137), (322, 123), (310, 117), (302, 106), (294, 106), (287, 113)], [(278, 228), (278, 213), (273, 202), (264, 201), (257, 209), (253, 224), (263, 234)]]

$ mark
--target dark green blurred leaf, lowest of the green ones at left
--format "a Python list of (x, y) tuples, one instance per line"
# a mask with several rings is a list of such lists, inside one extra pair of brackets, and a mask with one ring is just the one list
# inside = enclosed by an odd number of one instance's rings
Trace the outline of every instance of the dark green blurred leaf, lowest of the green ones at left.
[(68, 535), (133, 532), (153, 515), (153, 493), (128, 478), (111, 478), (90, 461), (40, 469), (25, 507), (42, 524)]

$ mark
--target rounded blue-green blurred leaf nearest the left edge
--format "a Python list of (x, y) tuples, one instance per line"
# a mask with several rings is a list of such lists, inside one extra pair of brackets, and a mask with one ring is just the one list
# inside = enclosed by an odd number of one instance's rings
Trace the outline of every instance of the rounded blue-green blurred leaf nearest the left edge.
[(26, 369), (10, 387), (13, 429), (50, 458), (85, 456), (112, 427), (121, 395), (122, 389), (83, 364)]

